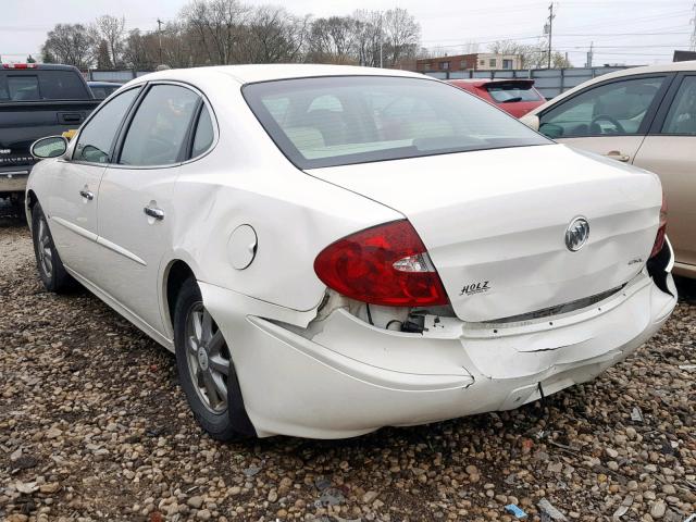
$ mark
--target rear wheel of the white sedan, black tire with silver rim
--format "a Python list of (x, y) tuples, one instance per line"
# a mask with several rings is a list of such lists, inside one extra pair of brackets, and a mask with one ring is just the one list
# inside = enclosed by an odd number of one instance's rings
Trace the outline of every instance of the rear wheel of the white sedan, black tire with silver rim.
[(179, 382), (194, 417), (216, 440), (256, 435), (241, 400), (229, 347), (206, 310), (196, 279), (182, 286), (174, 309)]

